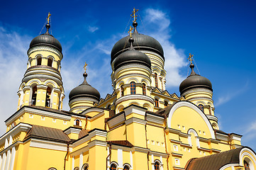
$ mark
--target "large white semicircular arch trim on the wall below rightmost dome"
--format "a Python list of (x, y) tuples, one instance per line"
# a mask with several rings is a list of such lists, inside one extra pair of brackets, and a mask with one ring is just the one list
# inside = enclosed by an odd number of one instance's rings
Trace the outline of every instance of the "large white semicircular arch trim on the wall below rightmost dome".
[(213, 127), (211, 126), (211, 123), (208, 120), (208, 118), (206, 117), (206, 115), (204, 113), (202, 113), (202, 111), (197, 106), (195, 106), (193, 103), (190, 103), (188, 101), (179, 101), (179, 102), (175, 103), (174, 106), (172, 106), (171, 110), (169, 111), (168, 118), (167, 118), (168, 128), (172, 127), (172, 125), (171, 125), (172, 115), (178, 108), (181, 108), (181, 107), (189, 107), (189, 108), (193, 109), (194, 111), (196, 111), (201, 116), (201, 118), (203, 118), (204, 122), (206, 123), (208, 130), (211, 133), (211, 138), (216, 139), (215, 133), (213, 131)]

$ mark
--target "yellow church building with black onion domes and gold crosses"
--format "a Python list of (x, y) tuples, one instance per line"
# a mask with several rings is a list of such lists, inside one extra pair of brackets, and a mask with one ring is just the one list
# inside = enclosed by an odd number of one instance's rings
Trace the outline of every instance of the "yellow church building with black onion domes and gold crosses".
[[(256, 155), (242, 135), (219, 129), (211, 81), (194, 70), (165, 89), (162, 45), (138, 29), (133, 10), (129, 35), (111, 51), (113, 91), (87, 81), (69, 93), (60, 74), (62, 45), (46, 32), (33, 38), (18, 89), (18, 108), (0, 137), (0, 170), (255, 170)], [(83, 64), (81, 63), (81, 66)], [(109, 84), (111, 86), (111, 84)]]

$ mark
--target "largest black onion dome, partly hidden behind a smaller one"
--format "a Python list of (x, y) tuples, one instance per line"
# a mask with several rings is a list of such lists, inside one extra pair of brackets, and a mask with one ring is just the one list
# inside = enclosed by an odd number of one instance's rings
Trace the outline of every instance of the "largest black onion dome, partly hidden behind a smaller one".
[[(155, 38), (152, 38), (148, 35), (143, 35), (138, 33), (136, 30), (136, 26), (138, 23), (133, 23), (134, 31), (133, 31), (133, 39), (134, 44), (133, 47), (135, 50), (150, 50), (153, 52), (156, 52), (158, 55), (160, 55), (163, 60), (165, 60), (164, 57), (164, 50), (162, 50), (162, 45), (160, 45), (160, 42), (155, 40)], [(118, 40), (115, 45), (113, 45), (112, 51), (111, 51), (111, 64), (113, 60), (118, 57), (122, 52), (128, 50), (130, 47), (128, 40), (130, 36), (126, 36), (125, 38), (121, 38), (121, 40)]]

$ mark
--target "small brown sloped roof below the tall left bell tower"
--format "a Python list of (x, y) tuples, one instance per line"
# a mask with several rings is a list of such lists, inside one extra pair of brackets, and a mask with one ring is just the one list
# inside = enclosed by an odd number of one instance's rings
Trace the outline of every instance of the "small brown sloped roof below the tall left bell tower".
[(40, 125), (33, 125), (28, 131), (24, 141), (30, 137), (34, 137), (42, 140), (53, 140), (57, 142), (69, 142), (69, 137), (60, 129), (48, 128)]

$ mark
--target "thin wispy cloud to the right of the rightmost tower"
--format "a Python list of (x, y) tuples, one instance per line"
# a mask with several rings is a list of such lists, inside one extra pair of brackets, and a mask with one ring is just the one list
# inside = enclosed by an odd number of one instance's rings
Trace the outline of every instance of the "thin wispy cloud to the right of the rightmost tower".
[(248, 81), (240, 89), (229, 91), (228, 93), (223, 94), (223, 96), (218, 97), (214, 105), (217, 107), (217, 106), (223, 105), (224, 103), (227, 103), (228, 101), (232, 100), (236, 96), (245, 92), (247, 90), (247, 86), (248, 86)]

